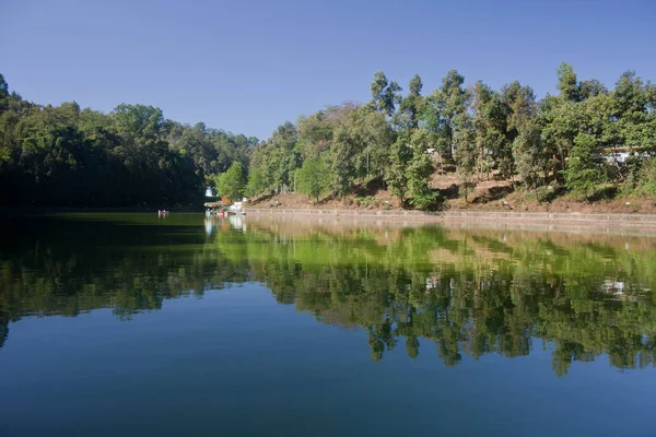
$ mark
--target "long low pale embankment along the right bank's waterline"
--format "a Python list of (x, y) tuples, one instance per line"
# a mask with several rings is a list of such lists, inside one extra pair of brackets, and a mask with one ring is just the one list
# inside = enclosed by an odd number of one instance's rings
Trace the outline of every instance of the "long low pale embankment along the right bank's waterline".
[[(656, 235), (656, 214), (583, 214), (482, 211), (374, 211), (312, 209), (247, 209), (249, 215), (335, 218), (339, 221), (389, 221), (403, 223), (447, 223), (475, 227), (549, 231), (600, 231), (626, 233), (648, 229)], [(642, 233), (641, 233), (642, 234)]]

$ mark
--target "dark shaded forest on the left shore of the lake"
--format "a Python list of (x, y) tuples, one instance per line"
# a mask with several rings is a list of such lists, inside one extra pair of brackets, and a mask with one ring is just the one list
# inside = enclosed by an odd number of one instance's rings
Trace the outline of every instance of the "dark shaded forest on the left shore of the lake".
[(0, 204), (179, 204), (206, 178), (248, 166), (255, 138), (191, 127), (152, 106), (110, 114), (75, 102), (40, 106), (9, 93), (0, 75)]

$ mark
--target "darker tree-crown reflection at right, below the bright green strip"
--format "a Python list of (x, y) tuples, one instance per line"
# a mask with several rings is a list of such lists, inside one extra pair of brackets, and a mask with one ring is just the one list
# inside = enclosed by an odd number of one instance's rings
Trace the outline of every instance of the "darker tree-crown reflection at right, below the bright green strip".
[[(329, 276), (339, 272), (339, 268), (335, 272), (303, 270), (301, 277), (294, 279), (293, 272), (277, 276), (293, 279), (282, 295), (289, 300), (290, 290), (296, 290), (298, 309), (315, 314), (321, 321), (328, 314), (331, 323), (363, 327), (375, 361), (394, 349), (399, 336), (406, 338), (411, 357), (419, 354), (421, 339), (434, 342), (448, 366), (460, 362), (462, 354), (475, 358), (488, 353), (525, 356), (537, 336), (553, 345), (553, 365), (559, 374), (566, 373), (573, 361), (588, 362), (601, 353), (620, 368), (653, 364), (656, 312), (652, 303), (609, 299), (599, 292), (599, 283), (586, 284), (582, 296), (540, 275), (528, 279), (493, 272), (482, 280), (457, 272), (442, 276), (440, 285), (426, 291), (424, 282), (413, 281), (412, 274), (370, 269), (370, 275), (388, 275), (387, 283), (400, 286), (370, 294), (370, 280), (362, 277), (362, 287), (351, 286), (360, 292), (343, 293), (330, 284)], [(321, 281), (324, 292), (302, 287)], [(278, 284), (270, 286), (277, 293)]]

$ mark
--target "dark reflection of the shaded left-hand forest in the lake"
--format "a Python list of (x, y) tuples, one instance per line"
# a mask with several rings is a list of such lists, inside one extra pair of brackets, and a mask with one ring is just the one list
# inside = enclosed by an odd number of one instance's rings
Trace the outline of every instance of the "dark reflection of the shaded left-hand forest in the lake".
[[(128, 320), (160, 309), (164, 299), (248, 279), (246, 260), (222, 262), (202, 234), (185, 226), (164, 233), (142, 224), (55, 218), (24, 225), (28, 231), (0, 252), (0, 321), (96, 308), (113, 308)], [(0, 334), (7, 335), (7, 323)]]

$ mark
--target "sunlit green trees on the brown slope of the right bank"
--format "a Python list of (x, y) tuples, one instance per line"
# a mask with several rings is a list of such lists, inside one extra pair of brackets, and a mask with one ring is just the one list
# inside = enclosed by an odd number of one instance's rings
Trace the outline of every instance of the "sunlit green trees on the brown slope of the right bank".
[[(440, 200), (431, 189), (434, 173), (455, 169), (465, 198), (492, 177), (526, 189), (562, 187), (581, 198), (605, 184), (652, 192), (649, 173), (641, 168), (652, 168), (656, 149), (656, 86), (628, 71), (609, 91), (597, 80), (579, 81), (566, 63), (557, 76), (560, 94), (538, 101), (517, 81), (500, 91), (482, 81), (466, 86), (455, 70), (427, 95), (415, 75), (403, 96), (398, 83), (377, 72), (368, 103), (330, 106), (286, 122), (258, 145), (248, 191), (343, 197), (356, 185), (378, 182), (372, 185), (426, 209)], [(612, 158), (618, 146), (635, 146), (623, 149), (631, 151), (626, 162)], [(308, 160), (316, 166), (317, 158), (329, 172), (320, 181), (315, 177), (311, 192), (306, 182), (298, 186), (295, 169)]]

